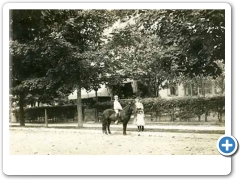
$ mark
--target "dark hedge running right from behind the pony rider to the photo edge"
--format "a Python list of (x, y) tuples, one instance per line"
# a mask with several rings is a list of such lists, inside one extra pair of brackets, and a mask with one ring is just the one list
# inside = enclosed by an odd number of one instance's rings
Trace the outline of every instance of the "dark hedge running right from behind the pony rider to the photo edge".
[[(120, 101), (124, 107), (129, 101)], [(225, 111), (225, 96), (215, 97), (181, 97), (171, 99), (144, 98), (142, 100), (145, 113), (156, 112), (157, 116), (167, 114), (173, 121), (176, 118), (180, 120), (189, 120), (190, 118), (205, 115), (205, 121), (210, 112), (217, 113), (219, 121), (222, 121), (222, 115)], [(113, 102), (97, 103), (95, 107), (99, 111), (113, 108)]]

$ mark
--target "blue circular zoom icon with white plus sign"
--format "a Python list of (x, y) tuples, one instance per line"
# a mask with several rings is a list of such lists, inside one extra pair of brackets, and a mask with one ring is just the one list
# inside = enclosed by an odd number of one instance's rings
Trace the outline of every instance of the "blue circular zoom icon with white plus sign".
[(238, 142), (233, 136), (221, 136), (217, 141), (217, 149), (224, 156), (233, 155), (238, 149)]

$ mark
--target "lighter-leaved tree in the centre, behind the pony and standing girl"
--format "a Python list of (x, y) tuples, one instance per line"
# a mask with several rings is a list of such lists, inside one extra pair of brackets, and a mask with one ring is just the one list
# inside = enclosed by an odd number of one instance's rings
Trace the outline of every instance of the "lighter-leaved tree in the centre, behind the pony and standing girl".
[(134, 26), (116, 29), (109, 45), (115, 51), (116, 63), (126, 77), (145, 88), (143, 94), (158, 96), (159, 86), (175, 76), (173, 63), (179, 54), (177, 47), (161, 46), (157, 35), (142, 34)]

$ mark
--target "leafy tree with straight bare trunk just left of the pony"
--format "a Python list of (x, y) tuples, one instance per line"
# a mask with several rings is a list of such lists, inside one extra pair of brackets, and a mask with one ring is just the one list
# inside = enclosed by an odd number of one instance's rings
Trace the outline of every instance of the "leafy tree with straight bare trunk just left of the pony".
[[(52, 13), (49, 11), (46, 17), (53, 17)], [(70, 90), (77, 88), (78, 126), (82, 127), (81, 89), (96, 89), (100, 77), (104, 77), (103, 31), (114, 23), (115, 16), (107, 10), (65, 10), (58, 14), (66, 20), (55, 23), (51, 36), (69, 55), (54, 59), (49, 75), (61, 79)]]

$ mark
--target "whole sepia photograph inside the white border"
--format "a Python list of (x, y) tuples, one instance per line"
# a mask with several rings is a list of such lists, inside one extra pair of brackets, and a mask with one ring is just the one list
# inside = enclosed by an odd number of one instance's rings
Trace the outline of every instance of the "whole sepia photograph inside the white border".
[(225, 9), (10, 9), (9, 154), (219, 155), (225, 58)]

